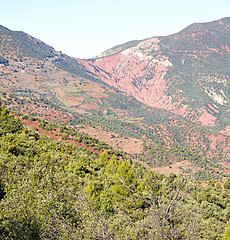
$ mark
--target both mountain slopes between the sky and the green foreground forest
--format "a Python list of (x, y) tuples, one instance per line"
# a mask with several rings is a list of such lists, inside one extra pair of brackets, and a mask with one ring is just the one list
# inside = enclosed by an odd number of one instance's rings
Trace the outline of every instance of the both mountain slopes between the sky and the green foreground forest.
[(1, 98), (13, 112), (77, 128), (159, 172), (226, 178), (228, 23), (191, 25), (88, 60), (0, 26)]

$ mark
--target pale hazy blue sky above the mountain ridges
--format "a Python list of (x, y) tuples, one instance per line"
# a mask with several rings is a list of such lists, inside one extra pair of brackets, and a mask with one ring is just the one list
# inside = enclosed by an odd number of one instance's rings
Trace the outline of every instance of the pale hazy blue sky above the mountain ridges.
[(230, 0), (0, 0), (0, 24), (72, 57), (230, 17)]

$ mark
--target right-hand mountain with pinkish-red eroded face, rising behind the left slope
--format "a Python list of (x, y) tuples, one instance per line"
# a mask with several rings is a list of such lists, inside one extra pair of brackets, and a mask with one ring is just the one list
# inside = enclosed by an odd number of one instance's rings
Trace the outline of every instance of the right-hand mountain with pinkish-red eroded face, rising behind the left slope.
[(148, 106), (229, 133), (230, 18), (128, 42), (78, 62)]

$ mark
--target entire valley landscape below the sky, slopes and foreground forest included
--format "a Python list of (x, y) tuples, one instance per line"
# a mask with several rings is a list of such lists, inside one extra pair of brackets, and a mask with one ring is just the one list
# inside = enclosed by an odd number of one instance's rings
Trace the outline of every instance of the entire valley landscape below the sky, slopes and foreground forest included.
[(0, 238), (230, 236), (230, 18), (72, 58), (0, 26)]

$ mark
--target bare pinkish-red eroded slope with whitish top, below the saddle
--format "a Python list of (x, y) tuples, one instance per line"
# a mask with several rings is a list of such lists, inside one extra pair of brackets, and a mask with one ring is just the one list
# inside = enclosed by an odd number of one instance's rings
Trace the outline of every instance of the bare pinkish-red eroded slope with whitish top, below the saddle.
[(186, 98), (173, 101), (173, 96), (166, 94), (171, 82), (165, 76), (172, 63), (160, 51), (154, 59), (151, 57), (152, 51), (160, 49), (159, 42), (158, 38), (151, 38), (120, 53), (98, 57), (93, 62), (77, 60), (100, 80), (148, 106), (166, 109), (188, 119), (194, 116), (194, 122), (214, 127), (216, 117), (205, 109), (199, 109), (199, 114), (194, 115), (193, 109), (184, 103)]

